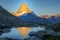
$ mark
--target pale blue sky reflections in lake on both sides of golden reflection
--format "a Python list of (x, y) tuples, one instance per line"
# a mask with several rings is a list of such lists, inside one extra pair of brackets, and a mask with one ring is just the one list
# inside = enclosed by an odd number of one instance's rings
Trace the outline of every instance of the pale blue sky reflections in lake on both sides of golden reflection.
[[(31, 29), (31, 31), (35, 31), (35, 32), (39, 31), (39, 30), (45, 30), (45, 28), (44, 27), (34, 27), (34, 28)], [(21, 39), (22, 38), (20, 33), (18, 32), (17, 28), (12, 28), (11, 32), (4, 33), (0, 37), (10, 37), (10, 38), (17, 38), (17, 39)], [(27, 34), (26, 37), (29, 37), (28, 34)]]

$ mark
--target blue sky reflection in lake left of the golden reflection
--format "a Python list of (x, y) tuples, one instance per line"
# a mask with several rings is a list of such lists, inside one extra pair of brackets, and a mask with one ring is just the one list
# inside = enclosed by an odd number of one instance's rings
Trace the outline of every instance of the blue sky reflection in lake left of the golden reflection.
[(17, 30), (16, 28), (12, 28), (12, 29), (11, 29), (11, 32), (9, 32), (9, 33), (4, 33), (4, 34), (2, 34), (2, 36), (0, 36), (0, 37), (9, 37), (9, 38), (17, 38), (17, 39), (22, 38), (22, 37), (20, 36), (20, 33), (18, 32), (18, 30)]

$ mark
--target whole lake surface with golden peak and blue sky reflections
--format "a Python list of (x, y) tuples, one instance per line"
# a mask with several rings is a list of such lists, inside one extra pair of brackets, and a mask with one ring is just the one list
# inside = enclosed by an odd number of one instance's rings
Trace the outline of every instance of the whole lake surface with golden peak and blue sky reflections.
[(19, 28), (12, 28), (11, 32), (4, 33), (0, 37), (8, 37), (8, 38), (16, 38), (22, 39), (22, 37), (28, 37), (29, 32), (31, 31), (39, 31), (45, 30), (45, 27), (19, 27)]

